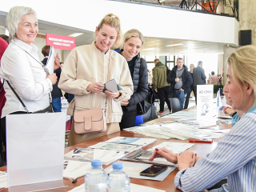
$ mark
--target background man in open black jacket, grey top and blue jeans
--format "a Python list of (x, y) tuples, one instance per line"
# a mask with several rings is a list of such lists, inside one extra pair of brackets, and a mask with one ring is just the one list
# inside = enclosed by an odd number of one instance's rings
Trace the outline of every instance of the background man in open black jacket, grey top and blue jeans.
[(183, 110), (185, 94), (190, 93), (193, 78), (187, 67), (183, 65), (182, 58), (177, 58), (176, 66), (168, 74), (167, 82), (174, 85), (174, 98), (178, 98), (181, 109)]

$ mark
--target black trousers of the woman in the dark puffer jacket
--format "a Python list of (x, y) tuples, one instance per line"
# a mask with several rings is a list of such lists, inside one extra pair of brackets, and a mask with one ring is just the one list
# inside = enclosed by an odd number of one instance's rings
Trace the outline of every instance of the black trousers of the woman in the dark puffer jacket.
[(122, 110), (122, 120), (119, 122), (120, 130), (135, 126), (137, 109), (124, 111)]

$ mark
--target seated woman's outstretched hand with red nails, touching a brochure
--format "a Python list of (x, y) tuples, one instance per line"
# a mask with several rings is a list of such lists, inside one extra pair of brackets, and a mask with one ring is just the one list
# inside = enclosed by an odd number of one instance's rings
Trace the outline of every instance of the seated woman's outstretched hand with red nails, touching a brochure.
[(170, 150), (167, 150), (165, 147), (161, 149), (156, 148), (150, 156), (150, 162), (152, 162), (154, 158), (166, 158), (168, 162), (177, 163), (177, 154), (170, 152)]

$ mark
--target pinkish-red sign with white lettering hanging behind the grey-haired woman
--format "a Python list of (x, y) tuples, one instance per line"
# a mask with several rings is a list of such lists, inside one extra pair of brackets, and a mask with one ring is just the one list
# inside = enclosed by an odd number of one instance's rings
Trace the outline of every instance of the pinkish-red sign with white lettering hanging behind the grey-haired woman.
[(59, 50), (73, 50), (75, 38), (58, 34), (46, 34), (46, 45), (53, 46), (54, 49)]

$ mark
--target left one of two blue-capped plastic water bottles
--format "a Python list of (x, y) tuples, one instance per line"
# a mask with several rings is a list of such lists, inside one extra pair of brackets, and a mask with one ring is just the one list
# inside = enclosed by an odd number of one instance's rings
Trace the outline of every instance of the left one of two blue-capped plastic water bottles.
[(101, 160), (92, 160), (91, 166), (85, 177), (86, 192), (106, 192), (107, 175)]

